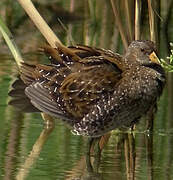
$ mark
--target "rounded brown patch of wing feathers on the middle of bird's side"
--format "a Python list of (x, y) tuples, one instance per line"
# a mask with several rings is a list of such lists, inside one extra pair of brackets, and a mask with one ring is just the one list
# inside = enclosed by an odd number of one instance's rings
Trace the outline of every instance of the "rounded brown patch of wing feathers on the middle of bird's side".
[(87, 66), (67, 76), (59, 92), (66, 102), (67, 111), (80, 119), (101, 95), (111, 93), (120, 79), (121, 71), (111, 64)]

